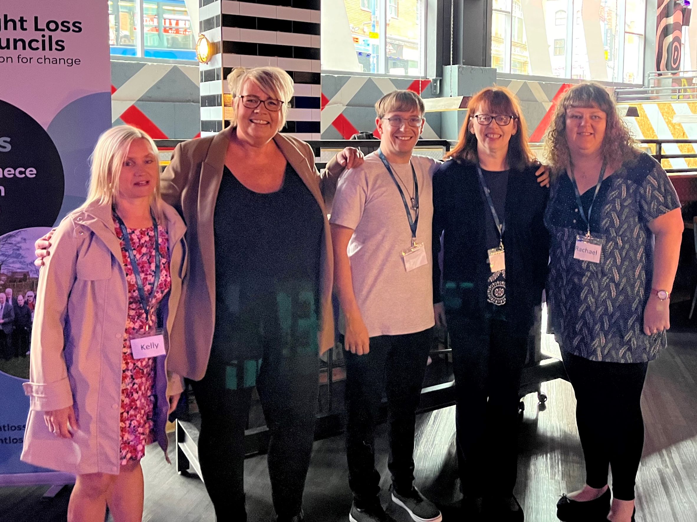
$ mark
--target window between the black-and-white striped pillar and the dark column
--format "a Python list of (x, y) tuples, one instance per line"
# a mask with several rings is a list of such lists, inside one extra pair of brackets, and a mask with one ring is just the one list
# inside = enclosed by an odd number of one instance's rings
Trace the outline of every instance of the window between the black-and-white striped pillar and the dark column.
[(344, 0), (344, 7), (348, 31), (343, 17), (323, 20), (323, 35), (332, 35), (323, 45), (323, 70), (424, 74), (426, 0)]

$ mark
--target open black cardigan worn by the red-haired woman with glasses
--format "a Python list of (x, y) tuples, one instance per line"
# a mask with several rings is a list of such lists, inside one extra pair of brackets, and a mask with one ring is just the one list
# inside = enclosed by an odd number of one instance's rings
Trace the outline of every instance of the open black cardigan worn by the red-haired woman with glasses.
[[(549, 260), (549, 234), (542, 221), (549, 190), (537, 184), (536, 170), (537, 166), (524, 171), (512, 169), (507, 176), (505, 199), (500, 187), (496, 190), (499, 204), (502, 199), (505, 201), (499, 218), (506, 223), (503, 235), (506, 317), (513, 328), (521, 332), (530, 329), (534, 308), (542, 301)], [(494, 178), (500, 174), (489, 173), (492, 180), (489, 189), (494, 201)], [(491, 210), (480, 187), (477, 167), (472, 162), (446, 161), (436, 171), (433, 183), (434, 260), (441, 251), (438, 238), (443, 235), (443, 287), (441, 268), (434, 262), (434, 302), (443, 301), (446, 310), (460, 310), (476, 324), (488, 308), (487, 285), (491, 269), (487, 249), (491, 248)], [(493, 246), (498, 246), (498, 236)]]

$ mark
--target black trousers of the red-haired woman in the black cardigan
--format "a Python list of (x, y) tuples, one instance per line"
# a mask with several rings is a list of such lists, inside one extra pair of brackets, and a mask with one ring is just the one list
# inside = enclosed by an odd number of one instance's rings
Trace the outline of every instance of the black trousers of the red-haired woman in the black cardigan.
[(457, 457), (463, 493), (510, 496), (518, 473), (518, 406), (528, 333), (511, 331), (491, 305), (484, 322), (447, 317), (457, 400)]

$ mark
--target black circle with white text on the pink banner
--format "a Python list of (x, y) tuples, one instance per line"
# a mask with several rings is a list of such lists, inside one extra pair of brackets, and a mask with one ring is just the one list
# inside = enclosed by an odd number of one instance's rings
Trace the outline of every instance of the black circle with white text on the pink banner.
[(52, 226), (63, 203), (63, 164), (29, 114), (0, 100), (0, 235)]

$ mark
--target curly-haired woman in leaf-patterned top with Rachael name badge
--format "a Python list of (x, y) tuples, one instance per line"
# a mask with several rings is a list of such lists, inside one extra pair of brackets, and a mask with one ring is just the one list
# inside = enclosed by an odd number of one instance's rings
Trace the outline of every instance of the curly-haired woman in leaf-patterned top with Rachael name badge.
[(547, 302), (576, 393), (586, 471), (583, 488), (559, 500), (557, 516), (634, 521), (641, 390), (670, 328), (680, 202), (599, 84), (574, 86), (562, 97), (546, 146), (556, 173), (545, 213)]

